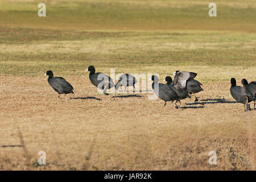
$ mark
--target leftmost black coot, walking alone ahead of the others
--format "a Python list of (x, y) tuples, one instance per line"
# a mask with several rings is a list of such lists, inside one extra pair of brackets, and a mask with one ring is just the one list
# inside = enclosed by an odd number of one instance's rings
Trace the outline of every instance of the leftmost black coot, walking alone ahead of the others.
[(51, 85), (53, 90), (60, 94), (73, 93), (73, 86), (69, 84), (63, 77), (53, 77), (52, 71), (47, 71), (44, 76), (48, 75), (48, 83)]

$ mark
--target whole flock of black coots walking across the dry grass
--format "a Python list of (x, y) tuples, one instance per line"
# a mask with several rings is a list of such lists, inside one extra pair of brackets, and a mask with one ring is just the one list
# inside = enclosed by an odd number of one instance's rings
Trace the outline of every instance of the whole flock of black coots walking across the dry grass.
[[(116, 90), (120, 86), (124, 87), (126, 90), (127, 86), (133, 86), (135, 89), (134, 84), (137, 83), (136, 78), (130, 74), (123, 74), (119, 77), (117, 84), (114, 84), (112, 78), (108, 75), (95, 71), (95, 68), (90, 65), (86, 71), (89, 71), (89, 79), (90, 82), (98, 89), (103, 90), (104, 94), (109, 95), (107, 90), (110, 88), (115, 87)], [(53, 90), (60, 94), (68, 94), (73, 93), (73, 86), (69, 84), (63, 77), (53, 77), (52, 71), (47, 71), (45, 76), (48, 75), (48, 83), (51, 85)], [(175, 106), (176, 109), (179, 107), (176, 105), (177, 102), (183, 100), (185, 98), (190, 98), (191, 96), (195, 96), (195, 101), (198, 101), (195, 93), (202, 91), (201, 83), (194, 78), (196, 77), (197, 73), (194, 72), (174, 72), (174, 80), (170, 76), (167, 76), (164, 81), (167, 81), (166, 84), (159, 83), (158, 76), (153, 75), (151, 77), (152, 89), (154, 90), (156, 96), (164, 101), (164, 106), (168, 101), (171, 101), (172, 104)], [(243, 86), (237, 86), (236, 79), (231, 78), (231, 87), (230, 93), (232, 97), (237, 101), (244, 104), (245, 111), (251, 110), (249, 102), (254, 101), (255, 107), (255, 98), (256, 98), (256, 82), (252, 81), (248, 84), (247, 80), (243, 78), (241, 80), (241, 84)], [(190, 95), (189, 95), (190, 94)], [(175, 102), (174, 102), (175, 101)]]

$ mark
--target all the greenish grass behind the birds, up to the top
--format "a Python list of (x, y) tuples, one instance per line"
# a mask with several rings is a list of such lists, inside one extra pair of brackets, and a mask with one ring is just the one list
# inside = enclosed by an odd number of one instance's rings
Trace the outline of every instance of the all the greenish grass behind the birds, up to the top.
[(210, 18), (204, 1), (46, 1), (47, 16), (39, 18), (37, 1), (1, 1), (0, 71), (255, 67), (256, 36), (248, 33), (255, 31), (255, 2), (216, 3), (218, 16)]

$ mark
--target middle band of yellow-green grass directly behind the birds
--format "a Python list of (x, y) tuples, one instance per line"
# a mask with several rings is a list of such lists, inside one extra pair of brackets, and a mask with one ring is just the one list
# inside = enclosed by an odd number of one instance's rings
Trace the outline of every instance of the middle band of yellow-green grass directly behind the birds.
[[(159, 67), (255, 68), (256, 35), (230, 31), (61, 31), (1, 28), (2, 75), (40, 76), (48, 69), (81, 76), (88, 65), (130, 72)], [(144, 69), (147, 67), (147, 69)], [(124, 69), (125, 70), (125, 69)]]

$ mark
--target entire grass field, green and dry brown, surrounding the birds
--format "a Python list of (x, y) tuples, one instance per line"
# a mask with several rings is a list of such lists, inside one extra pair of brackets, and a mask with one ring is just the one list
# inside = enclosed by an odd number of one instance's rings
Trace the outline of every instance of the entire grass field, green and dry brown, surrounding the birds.
[[(256, 2), (0, 2), (1, 170), (255, 170), (256, 114), (230, 95), (255, 81)], [(198, 73), (198, 102), (98, 93), (85, 72)], [(57, 98), (44, 73), (75, 88)], [(117, 80), (115, 80), (117, 82)], [(47, 165), (39, 166), (38, 152)], [(209, 151), (217, 152), (210, 165)]]

